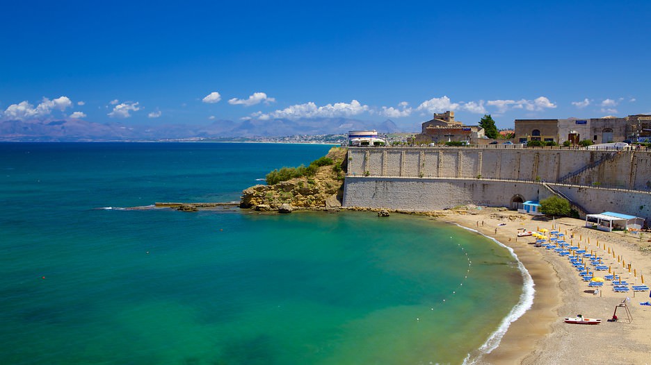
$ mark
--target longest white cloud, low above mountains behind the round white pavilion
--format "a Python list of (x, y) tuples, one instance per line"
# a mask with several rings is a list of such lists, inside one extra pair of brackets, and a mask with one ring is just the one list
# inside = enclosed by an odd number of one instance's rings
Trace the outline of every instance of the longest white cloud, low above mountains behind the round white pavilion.
[(318, 117), (350, 117), (362, 112), (369, 111), (369, 105), (362, 105), (359, 101), (353, 100), (351, 103), (335, 103), (323, 106), (316, 106), (310, 101), (305, 104), (291, 105), (283, 110), (275, 110), (270, 113), (255, 112), (251, 117), (260, 120), (268, 119), (299, 119), (299, 118), (318, 118)]

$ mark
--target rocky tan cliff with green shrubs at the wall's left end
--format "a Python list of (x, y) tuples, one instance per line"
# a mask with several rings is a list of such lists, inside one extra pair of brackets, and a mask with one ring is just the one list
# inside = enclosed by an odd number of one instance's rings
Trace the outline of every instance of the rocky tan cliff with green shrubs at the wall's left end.
[(313, 176), (302, 176), (275, 185), (255, 185), (244, 190), (240, 207), (280, 212), (288, 212), (288, 207), (289, 211), (341, 207), (347, 152), (347, 148), (331, 148), (325, 157), (334, 163), (318, 167)]

